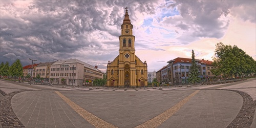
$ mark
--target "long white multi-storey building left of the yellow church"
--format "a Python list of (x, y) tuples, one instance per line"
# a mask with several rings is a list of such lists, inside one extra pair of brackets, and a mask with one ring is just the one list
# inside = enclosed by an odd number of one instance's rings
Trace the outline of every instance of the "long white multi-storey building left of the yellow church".
[(53, 84), (91, 85), (94, 79), (103, 79), (103, 73), (97, 68), (78, 59), (59, 60), (51, 65), (50, 79), (52, 78)]

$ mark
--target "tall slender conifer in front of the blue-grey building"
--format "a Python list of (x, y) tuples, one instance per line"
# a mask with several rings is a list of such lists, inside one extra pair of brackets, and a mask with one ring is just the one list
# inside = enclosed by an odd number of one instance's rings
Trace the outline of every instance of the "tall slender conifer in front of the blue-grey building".
[(188, 82), (191, 82), (193, 84), (196, 84), (196, 82), (200, 81), (199, 73), (198, 73), (198, 67), (197, 67), (197, 63), (195, 60), (195, 53), (194, 50), (192, 50), (192, 60), (191, 60), (191, 66), (189, 69), (189, 78), (188, 78)]

